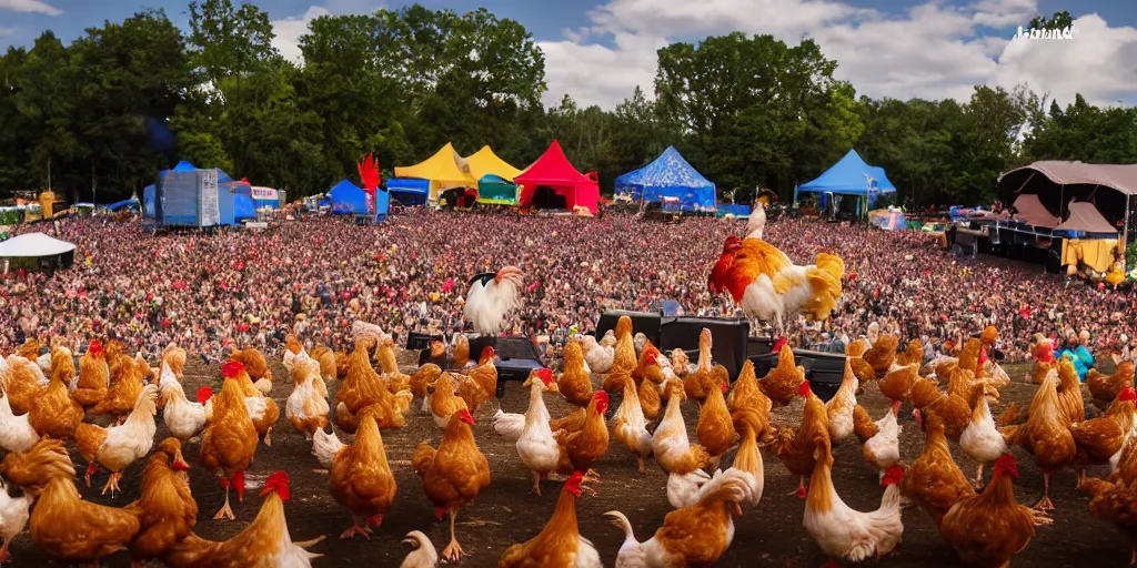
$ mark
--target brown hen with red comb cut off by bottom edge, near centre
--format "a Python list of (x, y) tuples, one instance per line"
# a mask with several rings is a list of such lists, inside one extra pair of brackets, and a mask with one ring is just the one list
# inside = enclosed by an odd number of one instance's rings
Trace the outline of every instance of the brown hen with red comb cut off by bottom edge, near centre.
[(580, 535), (576, 525), (576, 498), (581, 493), (580, 471), (565, 482), (553, 517), (545, 528), (524, 544), (505, 550), (499, 568), (603, 568), (596, 546)]

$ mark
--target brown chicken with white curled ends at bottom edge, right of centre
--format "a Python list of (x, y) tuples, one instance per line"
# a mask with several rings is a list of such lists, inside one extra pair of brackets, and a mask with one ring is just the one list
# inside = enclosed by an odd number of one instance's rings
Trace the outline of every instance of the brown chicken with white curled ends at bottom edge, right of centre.
[(735, 540), (731, 513), (741, 515), (740, 503), (754, 501), (754, 479), (738, 469), (716, 471), (699, 490), (698, 501), (663, 518), (663, 526), (647, 542), (638, 542), (632, 524), (620, 511), (608, 511), (624, 532), (616, 568), (670, 568), (712, 566)]

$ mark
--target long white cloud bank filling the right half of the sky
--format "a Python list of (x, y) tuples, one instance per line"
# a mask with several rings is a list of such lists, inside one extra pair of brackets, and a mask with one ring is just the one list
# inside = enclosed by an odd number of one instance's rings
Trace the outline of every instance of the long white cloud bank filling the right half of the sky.
[[(1037, 12), (1037, 0), (979, 0), (953, 7), (932, 0), (886, 15), (816, 0), (612, 0), (591, 12), (588, 33), (540, 42), (555, 105), (565, 93), (581, 105), (613, 108), (636, 85), (654, 92), (655, 51), (675, 37), (732, 31), (772, 34), (795, 44), (813, 37), (838, 62), (836, 75), (858, 93), (965, 101), (976, 84), (1028, 83), (1060, 103), (1076, 92), (1111, 103), (1137, 92), (1137, 28), (1110, 27), (1096, 14), (1067, 42), (1012, 40)], [(1003, 30), (980, 35), (980, 26)], [(595, 43), (613, 39), (613, 45)], [(590, 43), (591, 42), (591, 43)]]

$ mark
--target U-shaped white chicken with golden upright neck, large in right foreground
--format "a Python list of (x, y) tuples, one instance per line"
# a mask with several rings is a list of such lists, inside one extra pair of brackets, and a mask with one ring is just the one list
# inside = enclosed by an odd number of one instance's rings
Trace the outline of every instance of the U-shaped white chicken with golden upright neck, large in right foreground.
[(879, 559), (901, 543), (904, 524), (901, 521), (901, 482), (904, 470), (893, 466), (881, 484), (885, 495), (880, 508), (872, 512), (850, 509), (833, 487), (833, 454), (829, 440), (816, 436), (821, 456), (810, 478), (810, 494), (805, 501), (805, 529), (818, 542), (830, 561), (839, 558), (847, 562)]

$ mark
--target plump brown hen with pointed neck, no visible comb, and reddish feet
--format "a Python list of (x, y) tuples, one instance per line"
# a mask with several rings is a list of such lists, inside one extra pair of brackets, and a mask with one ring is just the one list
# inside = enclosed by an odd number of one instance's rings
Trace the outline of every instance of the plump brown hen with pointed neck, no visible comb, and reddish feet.
[(340, 538), (358, 534), (371, 540), (372, 528), (383, 524), (383, 513), (395, 501), (395, 476), (373, 409), (364, 410), (355, 440), (335, 453), (330, 469), (332, 496), (351, 512), (351, 527)]

